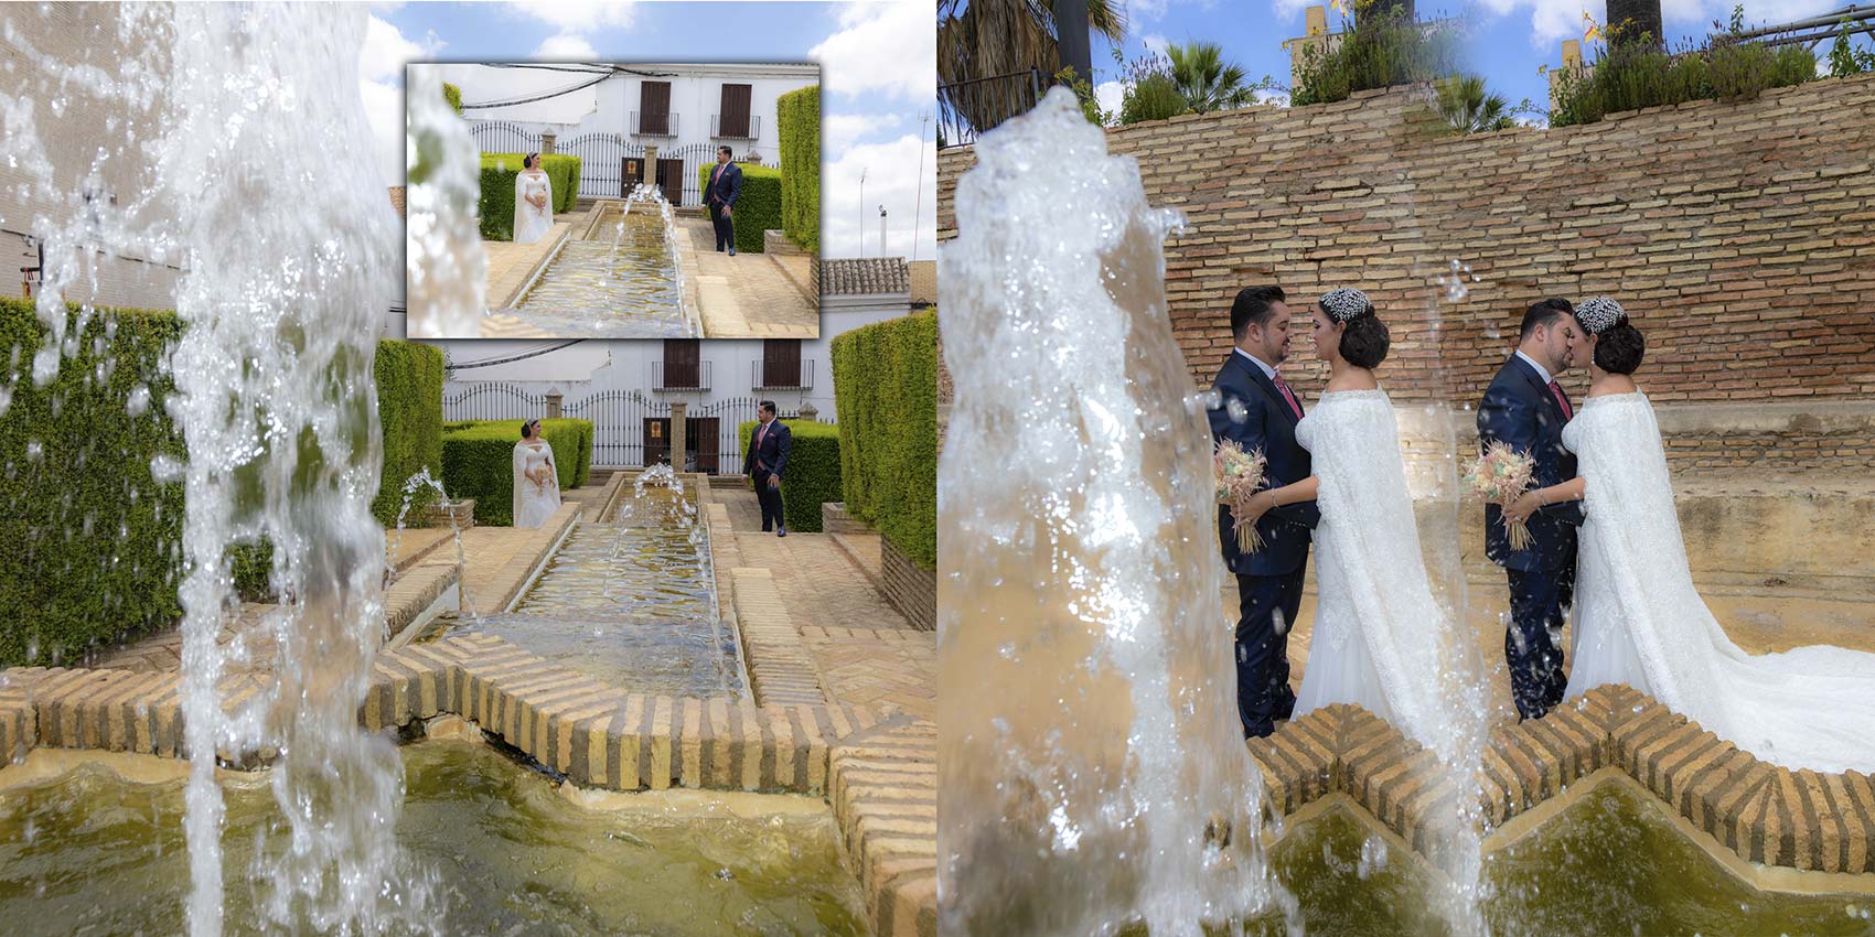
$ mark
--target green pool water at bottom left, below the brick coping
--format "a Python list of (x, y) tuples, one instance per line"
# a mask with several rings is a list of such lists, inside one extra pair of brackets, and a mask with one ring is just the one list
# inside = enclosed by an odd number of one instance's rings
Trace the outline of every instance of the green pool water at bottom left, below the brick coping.
[[(831, 815), (587, 810), (486, 746), (422, 742), (401, 753), (409, 793), (398, 834), (442, 883), (442, 933), (866, 933)], [(264, 781), (229, 785), (229, 935), (262, 933), (248, 870), (255, 834), (276, 819)], [(0, 933), (182, 933), (188, 875), (180, 783), (81, 768), (0, 793)]]

